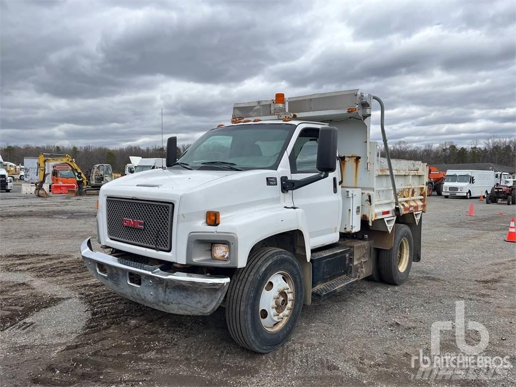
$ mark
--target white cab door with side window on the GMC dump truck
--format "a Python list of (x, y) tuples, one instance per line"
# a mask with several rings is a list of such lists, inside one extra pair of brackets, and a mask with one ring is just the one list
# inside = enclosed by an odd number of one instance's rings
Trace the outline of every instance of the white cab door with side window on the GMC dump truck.
[[(289, 155), (292, 179), (320, 173), (316, 167), (318, 138), (318, 128), (303, 128), (299, 133)], [(338, 181), (340, 172), (337, 168), (326, 179), (292, 191), (294, 205), (307, 216), (312, 248), (336, 242), (339, 238), (341, 197)]]

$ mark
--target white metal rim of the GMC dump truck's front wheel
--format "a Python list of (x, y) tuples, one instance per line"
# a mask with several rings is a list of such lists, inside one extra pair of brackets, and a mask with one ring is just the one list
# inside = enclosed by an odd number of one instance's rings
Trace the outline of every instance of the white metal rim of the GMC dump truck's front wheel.
[(294, 281), (285, 271), (274, 273), (265, 282), (258, 314), (262, 326), (269, 332), (283, 328), (294, 309)]

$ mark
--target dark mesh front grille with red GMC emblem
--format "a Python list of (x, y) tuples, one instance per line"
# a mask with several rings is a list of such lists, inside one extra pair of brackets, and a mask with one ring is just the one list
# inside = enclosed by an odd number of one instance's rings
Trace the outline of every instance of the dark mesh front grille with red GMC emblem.
[(173, 216), (172, 203), (106, 199), (107, 235), (130, 245), (170, 251)]

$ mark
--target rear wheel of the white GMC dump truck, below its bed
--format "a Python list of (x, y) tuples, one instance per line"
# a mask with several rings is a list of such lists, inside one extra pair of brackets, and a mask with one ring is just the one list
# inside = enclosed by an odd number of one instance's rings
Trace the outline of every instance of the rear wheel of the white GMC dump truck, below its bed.
[(414, 257), (414, 240), (405, 224), (394, 226), (394, 244), (390, 250), (380, 250), (378, 267), (386, 283), (401, 285), (409, 277)]

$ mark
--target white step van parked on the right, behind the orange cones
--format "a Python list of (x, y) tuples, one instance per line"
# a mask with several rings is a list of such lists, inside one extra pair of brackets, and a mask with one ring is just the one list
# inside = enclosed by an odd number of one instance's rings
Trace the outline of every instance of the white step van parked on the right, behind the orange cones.
[(449, 169), (446, 171), (443, 195), (462, 196), (466, 199), (486, 196), (494, 186), (494, 171)]

